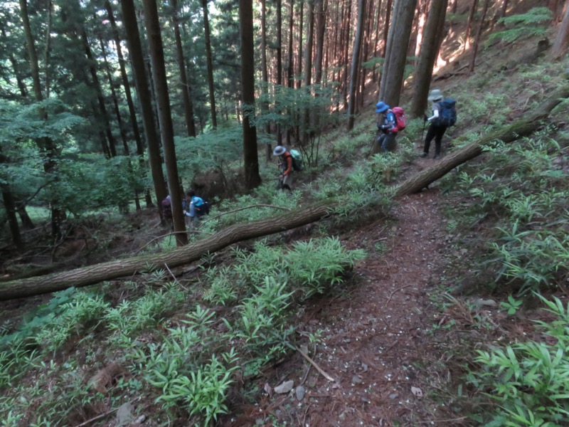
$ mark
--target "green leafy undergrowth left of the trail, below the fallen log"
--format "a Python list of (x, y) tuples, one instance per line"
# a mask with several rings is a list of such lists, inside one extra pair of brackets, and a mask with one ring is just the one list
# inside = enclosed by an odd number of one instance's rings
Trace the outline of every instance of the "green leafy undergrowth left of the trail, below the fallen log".
[[(257, 243), (233, 255), (231, 265), (203, 272), (201, 302), (187, 302), (184, 285), (156, 270), (145, 283), (125, 286), (133, 292), (128, 299), (65, 290), (18, 330), (5, 330), (2, 426), (75, 425), (141, 394), (162, 408), (156, 422), (206, 425), (228, 411), (237, 376), (255, 377), (295, 348), (302, 302), (343, 292), (346, 274), (365, 256), (337, 238), (289, 248)], [(121, 375), (97, 383), (97, 370), (110, 364)]]

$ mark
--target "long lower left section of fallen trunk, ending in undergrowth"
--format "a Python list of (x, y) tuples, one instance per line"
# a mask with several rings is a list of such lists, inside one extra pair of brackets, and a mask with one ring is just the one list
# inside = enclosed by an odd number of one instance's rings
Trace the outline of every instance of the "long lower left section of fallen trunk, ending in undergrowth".
[(0, 301), (14, 298), (30, 297), (44, 293), (55, 292), (75, 286), (77, 288), (95, 285), (105, 280), (122, 278), (134, 275), (140, 270), (147, 270), (149, 265), (161, 268), (164, 264), (176, 267), (198, 260), (208, 252), (216, 252), (227, 246), (250, 238), (267, 236), (280, 231), (289, 230), (308, 223), (319, 221), (328, 214), (329, 203), (320, 203), (309, 206), (302, 211), (291, 211), (287, 214), (272, 216), (260, 221), (230, 226), (211, 237), (193, 243), (183, 248), (174, 249), (166, 253), (142, 255), (124, 260), (90, 265), (35, 278), (12, 280), (0, 283)]

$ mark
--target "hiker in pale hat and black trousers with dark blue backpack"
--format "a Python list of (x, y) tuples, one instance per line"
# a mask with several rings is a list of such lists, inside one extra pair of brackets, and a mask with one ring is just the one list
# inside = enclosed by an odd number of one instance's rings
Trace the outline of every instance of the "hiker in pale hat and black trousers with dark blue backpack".
[(430, 122), (430, 125), (420, 157), (424, 158), (429, 155), (431, 141), (435, 138), (435, 155), (432, 158), (438, 159), (440, 157), (442, 135), (445, 135), (447, 128), (454, 126), (454, 123), (457, 121), (457, 112), (454, 109), (456, 102), (452, 98), (444, 99), (439, 89), (431, 90), (427, 100), (432, 101), (432, 116), (427, 117), (425, 115), (424, 117), (425, 123)]

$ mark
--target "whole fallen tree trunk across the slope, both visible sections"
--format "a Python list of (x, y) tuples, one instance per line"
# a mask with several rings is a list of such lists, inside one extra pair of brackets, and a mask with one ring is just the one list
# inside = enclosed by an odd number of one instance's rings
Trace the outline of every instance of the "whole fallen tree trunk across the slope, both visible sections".
[[(564, 98), (569, 97), (569, 86), (557, 90), (551, 97), (543, 102), (538, 109), (527, 118), (519, 120), (502, 130), (487, 135), (479, 142), (473, 142), (457, 152), (450, 154), (435, 166), (425, 169), (420, 174), (413, 176), (395, 190), (395, 197), (412, 194), (425, 188), (432, 182), (440, 179), (455, 167), (479, 156), (485, 147), (489, 147), (496, 141), (514, 142), (516, 139), (531, 135), (541, 127), (541, 121), (548, 117), (549, 113)], [(87, 285), (95, 285), (105, 280), (122, 278), (134, 275), (140, 270), (145, 270), (148, 265), (160, 268), (161, 265), (176, 267), (198, 260), (208, 252), (216, 252), (233, 243), (245, 241), (250, 238), (267, 236), (272, 233), (289, 230), (308, 223), (318, 221), (329, 214), (329, 203), (315, 204), (302, 211), (291, 211), (287, 214), (273, 216), (260, 221), (247, 224), (238, 224), (225, 228), (211, 237), (204, 238), (183, 248), (177, 248), (167, 253), (144, 255), (124, 260), (112, 261), (97, 265), (90, 265), (65, 273), (55, 273), (35, 278), (12, 280), (0, 283), (0, 301), (11, 300), (20, 297), (41, 295), (55, 292), (75, 286), (80, 288)]]

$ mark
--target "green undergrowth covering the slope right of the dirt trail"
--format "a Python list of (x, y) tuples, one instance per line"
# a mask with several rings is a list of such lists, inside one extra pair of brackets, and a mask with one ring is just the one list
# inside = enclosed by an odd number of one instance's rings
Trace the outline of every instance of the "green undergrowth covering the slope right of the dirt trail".
[[(482, 161), (442, 181), (452, 215), (447, 231), (455, 236), (454, 248), (469, 255), (454, 260), (462, 272), (458, 288), (501, 301), (508, 316), (526, 312), (537, 295), (555, 315), (536, 320), (537, 326), (520, 325), (533, 339), (508, 344), (506, 335), (504, 344), (484, 344), (469, 357), (456, 399), (479, 405), (470, 410), (477, 425), (569, 421), (568, 308), (563, 292), (555, 296), (569, 279), (568, 161), (567, 133), (546, 127), (519, 142), (496, 144)], [(489, 342), (503, 334), (496, 320), (476, 313), (473, 322), (494, 337)]]

